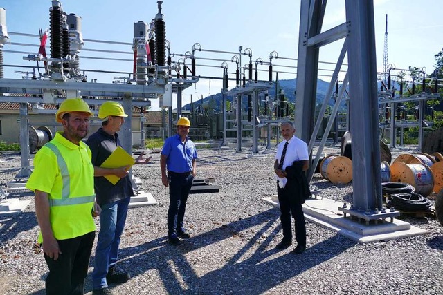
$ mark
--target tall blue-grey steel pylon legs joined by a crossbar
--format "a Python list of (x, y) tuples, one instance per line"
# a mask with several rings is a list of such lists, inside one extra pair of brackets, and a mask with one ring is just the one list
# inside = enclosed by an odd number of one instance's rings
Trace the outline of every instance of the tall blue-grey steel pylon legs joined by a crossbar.
[[(326, 0), (302, 0), (298, 42), (296, 135), (312, 143), (319, 47), (346, 37), (352, 133), (353, 209), (358, 216), (379, 219), (382, 211), (379, 146), (379, 101), (372, 0), (345, 0), (346, 22), (321, 33)], [(332, 81), (335, 83), (335, 81)], [(326, 97), (329, 99), (329, 97)], [(329, 124), (328, 124), (329, 125)], [(327, 133), (326, 133), (327, 134)], [(322, 149), (323, 146), (320, 146)], [(315, 167), (311, 166), (310, 171)], [(340, 208), (339, 208), (340, 209)], [(344, 208), (342, 208), (343, 210)], [(390, 212), (388, 216), (397, 216)]]

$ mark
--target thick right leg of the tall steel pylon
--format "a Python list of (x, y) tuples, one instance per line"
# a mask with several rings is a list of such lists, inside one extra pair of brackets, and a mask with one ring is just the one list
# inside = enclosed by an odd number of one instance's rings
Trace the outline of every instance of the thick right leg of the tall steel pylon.
[[(350, 23), (347, 59), (354, 208), (381, 211), (383, 203), (374, 3), (372, 0), (346, 0), (345, 3), (346, 20)], [(356, 132), (352, 132), (353, 130)]]

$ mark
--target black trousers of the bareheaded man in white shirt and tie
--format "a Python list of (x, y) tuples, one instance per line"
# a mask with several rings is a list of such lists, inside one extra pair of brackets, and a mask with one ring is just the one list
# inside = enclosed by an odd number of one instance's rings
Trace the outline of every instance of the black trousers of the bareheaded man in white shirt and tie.
[(306, 225), (305, 214), (302, 210), (302, 204), (296, 198), (293, 191), (286, 188), (277, 187), (278, 202), (280, 203), (280, 221), (282, 222), (283, 240), (292, 242), (291, 216), (296, 222), (296, 240), (297, 245), (306, 247)]

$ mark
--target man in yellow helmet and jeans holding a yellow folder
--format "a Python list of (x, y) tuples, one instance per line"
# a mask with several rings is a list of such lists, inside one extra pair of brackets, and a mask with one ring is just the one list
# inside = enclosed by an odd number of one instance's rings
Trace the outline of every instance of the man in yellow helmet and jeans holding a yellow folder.
[[(102, 208), (92, 272), (94, 295), (111, 294), (109, 283), (125, 283), (129, 280), (127, 272), (115, 270), (129, 200), (134, 195), (128, 170), (132, 164), (146, 164), (150, 160), (143, 159), (143, 153), (134, 160), (121, 148), (117, 131), (120, 131), (127, 117), (121, 104), (105, 102), (98, 110), (98, 117), (103, 120), (102, 127), (87, 140), (92, 152), (96, 201)], [(122, 157), (122, 153), (126, 157)]]

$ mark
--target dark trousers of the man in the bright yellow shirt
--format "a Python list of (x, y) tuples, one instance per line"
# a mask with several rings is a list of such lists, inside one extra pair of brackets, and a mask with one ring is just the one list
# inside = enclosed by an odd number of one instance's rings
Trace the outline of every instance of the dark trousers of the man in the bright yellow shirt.
[(89, 258), (96, 232), (67, 240), (57, 240), (62, 254), (57, 260), (44, 256), (49, 267), (46, 294), (84, 294), (84, 279), (88, 273)]

